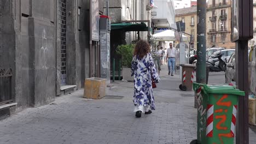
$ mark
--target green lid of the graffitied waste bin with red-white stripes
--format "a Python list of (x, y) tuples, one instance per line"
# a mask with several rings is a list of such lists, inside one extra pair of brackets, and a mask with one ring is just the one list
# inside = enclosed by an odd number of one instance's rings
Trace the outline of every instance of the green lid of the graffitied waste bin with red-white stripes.
[(236, 89), (234, 86), (229, 85), (204, 85), (201, 83), (193, 83), (194, 91), (199, 88), (200, 86), (203, 87), (203, 91), (205, 93), (223, 93), (223, 94), (235, 94), (235, 95), (241, 95), (245, 96), (245, 92), (240, 91), (239, 89)]

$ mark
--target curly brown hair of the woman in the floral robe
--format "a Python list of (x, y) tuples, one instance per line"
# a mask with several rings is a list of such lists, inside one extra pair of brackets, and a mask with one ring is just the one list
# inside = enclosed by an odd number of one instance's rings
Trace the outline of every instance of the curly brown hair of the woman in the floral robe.
[(139, 40), (135, 46), (135, 50), (133, 55), (138, 56), (139, 58), (143, 58), (150, 52), (150, 45), (146, 40)]

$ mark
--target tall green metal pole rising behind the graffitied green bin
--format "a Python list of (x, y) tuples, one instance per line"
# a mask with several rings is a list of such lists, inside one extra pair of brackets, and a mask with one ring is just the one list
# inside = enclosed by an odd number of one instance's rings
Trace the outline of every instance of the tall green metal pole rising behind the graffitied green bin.
[(206, 83), (206, 0), (197, 0), (196, 82)]

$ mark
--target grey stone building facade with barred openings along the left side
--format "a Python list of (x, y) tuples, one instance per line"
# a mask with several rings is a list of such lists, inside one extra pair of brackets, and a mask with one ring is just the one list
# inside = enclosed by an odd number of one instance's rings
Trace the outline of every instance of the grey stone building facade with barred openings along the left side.
[[(93, 41), (92, 53), (89, 48), (89, 5), (89, 0), (0, 1), (1, 104), (13, 102), (18, 111), (49, 104), (98, 75), (98, 45)], [(8, 85), (2, 75), (11, 76)]]

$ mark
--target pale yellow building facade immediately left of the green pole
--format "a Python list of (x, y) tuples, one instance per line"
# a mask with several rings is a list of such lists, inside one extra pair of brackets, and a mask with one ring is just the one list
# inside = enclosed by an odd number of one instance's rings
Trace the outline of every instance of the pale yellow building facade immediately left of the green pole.
[[(185, 33), (193, 35), (194, 40), (191, 41), (191, 49), (197, 47), (197, 7), (183, 8), (175, 10), (175, 21), (182, 21), (185, 23)], [(189, 35), (187, 35), (190, 37)]]

